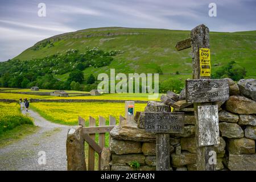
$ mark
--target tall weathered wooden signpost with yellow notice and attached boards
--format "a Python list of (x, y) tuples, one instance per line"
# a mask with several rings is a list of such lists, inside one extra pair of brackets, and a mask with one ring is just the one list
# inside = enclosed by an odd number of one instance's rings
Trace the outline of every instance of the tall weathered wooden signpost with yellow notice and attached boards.
[[(196, 116), (196, 167), (198, 171), (214, 171), (215, 165), (209, 163), (209, 154), (212, 154), (214, 144), (218, 144), (220, 139), (218, 107), (212, 102), (228, 100), (229, 86), (224, 79), (210, 80), (209, 28), (204, 24), (193, 28), (190, 40), (193, 80), (186, 81), (186, 100), (194, 104)], [(178, 51), (189, 47), (189, 39), (184, 42), (187, 43), (177, 43)]]

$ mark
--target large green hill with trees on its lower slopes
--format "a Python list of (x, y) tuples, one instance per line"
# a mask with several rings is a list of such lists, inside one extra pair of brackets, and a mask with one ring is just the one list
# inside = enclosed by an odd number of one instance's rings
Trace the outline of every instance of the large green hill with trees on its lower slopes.
[[(192, 76), (191, 49), (175, 44), (190, 31), (90, 28), (52, 36), (0, 63), (0, 86), (82, 90), (97, 88), (99, 73), (159, 73), (159, 90), (179, 92)], [(212, 78), (256, 78), (256, 31), (210, 32)], [(245, 75), (246, 73), (246, 75)]]

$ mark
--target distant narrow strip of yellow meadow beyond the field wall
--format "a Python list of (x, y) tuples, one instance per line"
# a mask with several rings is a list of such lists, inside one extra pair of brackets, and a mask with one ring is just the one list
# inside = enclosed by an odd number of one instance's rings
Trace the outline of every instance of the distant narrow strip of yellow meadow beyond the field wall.
[[(75, 91), (73, 91), (75, 92)], [(115, 93), (115, 94), (102, 94), (101, 96), (73, 96), (73, 97), (56, 97), (56, 96), (36, 96), (31, 94), (19, 94), (19, 93), (1, 93), (0, 99), (13, 99), (19, 100), (20, 98), (37, 98), (37, 99), (51, 99), (51, 100), (59, 100), (59, 99), (75, 99), (75, 100), (137, 100), (137, 101), (148, 101), (148, 96), (150, 94), (146, 93)], [(160, 101), (160, 96), (156, 99)]]

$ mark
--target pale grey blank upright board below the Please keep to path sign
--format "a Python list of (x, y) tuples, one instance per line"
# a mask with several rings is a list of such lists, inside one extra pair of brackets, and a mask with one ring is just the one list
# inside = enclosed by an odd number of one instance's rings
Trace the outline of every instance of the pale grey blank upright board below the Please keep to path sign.
[(220, 143), (218, 130), (218, 105), (198, 106), (199, 146)]

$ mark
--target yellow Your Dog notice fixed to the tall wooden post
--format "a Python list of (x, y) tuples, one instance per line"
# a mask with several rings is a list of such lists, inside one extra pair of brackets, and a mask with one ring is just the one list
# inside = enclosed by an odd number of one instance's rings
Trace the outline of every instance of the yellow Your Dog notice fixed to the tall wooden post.
[(200, 76), (210, 76), (210, 49), (199, 48)]

